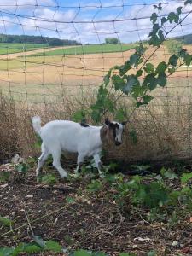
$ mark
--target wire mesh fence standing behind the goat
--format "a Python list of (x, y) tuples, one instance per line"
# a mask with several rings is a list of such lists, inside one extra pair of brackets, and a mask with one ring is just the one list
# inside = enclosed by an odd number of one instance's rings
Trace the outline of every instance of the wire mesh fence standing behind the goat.
[[(44, 121), (71, 119), (75, 110), (95, 101), (98, 86), (109, 68), (123, 64), (137, 44), (148, 45), (155, 4), (158, 3), (149, 0), (0, 3), (0, 90), (2, 96), (15, 102), (13, 107), (13, 102), (1, 100), (1, 151), (6, 153), (3, 158), (20, 150), (32, 154), (32, 114), (41, 114)], [(183, 6), (182, 17), (189, 14), (177, 28), (172, 29), (174, 25), (170, 24), (165, 29), (172, 30), (169, 37), (182, 42), (191, 53), (191, 5), (184, 6), (183, 0), (161, 1), (161, 5), (158, 19), (179, 6)], [(146, 58), (152, 50), (148, 46)], [(157, 66), (160, 61), (168, 61), (169, 56), (165, 43), (151, 62)], [(136, 71), (131, 69), (130, 73)], [(109, 149), (108, 158), (190, 156), (191, 82), (192, 67), (178, 68), (166, 87), (155, 91), (154, 101), (137, 110), (127, 128), (124, 146), (118, 152)], [(131, 109), (128, 96), (123, 96), (122, 101)], [(137, 132), (136, 144), (129, 136), (132, 128)], [(7, 137), (14, 137), (15, 141), (8, 143)]]

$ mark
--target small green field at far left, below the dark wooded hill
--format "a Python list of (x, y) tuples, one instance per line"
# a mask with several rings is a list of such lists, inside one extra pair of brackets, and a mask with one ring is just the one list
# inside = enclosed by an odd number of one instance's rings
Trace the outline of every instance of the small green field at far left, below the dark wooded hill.
[(14, 43), (0, 43), (0, 55), (7, 55), (12, 53), (24, 52), (33, 49), (47, 48), (46, 44), (14, 44)]

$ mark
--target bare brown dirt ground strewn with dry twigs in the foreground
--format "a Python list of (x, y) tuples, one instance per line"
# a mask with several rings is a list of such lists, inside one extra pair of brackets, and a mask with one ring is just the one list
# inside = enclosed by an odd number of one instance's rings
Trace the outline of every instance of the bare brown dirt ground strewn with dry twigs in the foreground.
[[(114, 201), (88, 194), (88, 180), (60, 181), (54, 186), (37, 183), (34, 170), (24, 180), (15, 178), (9, 165), (0, 172), (12, 172), (9, 182), (0, 183), (0, 215), (13, 221), (11, 230), (0, 224), (0, 247), (32, 241), (32, 231), (44, 240), (59, 241), (67, 249), (84, 248), (147, 255), (191, 255), (192, 226), (189, 216), (170, 226), (148, 223), (143, 212), (132, 212), (129, 201), (123, 213)], [(177, 186), (176, 188), (177, 189)], [(27, 223), (28, 216), (32, 231)], [(38, 254), (37, 254), (38, 255)]]

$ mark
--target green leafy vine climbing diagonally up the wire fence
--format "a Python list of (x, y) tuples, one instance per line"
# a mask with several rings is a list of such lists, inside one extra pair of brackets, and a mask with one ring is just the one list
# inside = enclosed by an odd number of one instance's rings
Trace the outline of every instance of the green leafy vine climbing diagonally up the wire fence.
[[(192, 0), (184, 2), (185, 6), (188, 4), (192, 4)], [(186, 49), (181, 49), (177, 54), (170, 55), (167, 62), (161, 61), (157, 67), (154, 67), (154, 64), (150, 62), (167, 36), (177, 26), (181, 25), (183, 20), (192, 12), (191, 10), (182, 17), (182, 10), (183, 7), (180, 6), (176, 11), (172, 11), (165, 17), (160, 15), (162, 11), (161, 3), (154, 5), (154, 13), (150, 16), (152, 30), (148, 34), (148, 44), (154, 47), (154, 50), (146, 58), (144, 54), (148, 47), (147, 44), (141, 43), (123, 65), (109, 69), (98, 89), (96, 102), (90, 106), (89, 114), (96, 123), (100, 122), (106, 113), (112, 113), (119, 121), (128, 118), (126, 108), (119, 107), (118, 104), (122, 96), (131, 96), (133, 100), (132, 111), (140, 106), (148, 105), (154, 99), (154, 96), (151, 95), (153, 90), (158, 86), (165, 87), (167, 78), (175, 73), (179, 67), (183, 65), (190, 66), (192, 55)], [(172, 28), (167, 31), (168, 26), (166, 25), (170, 26), (170, 24)], [(137, 68), (137, 71), (132, 73), (132, 68)]]

